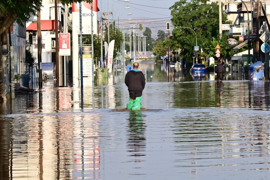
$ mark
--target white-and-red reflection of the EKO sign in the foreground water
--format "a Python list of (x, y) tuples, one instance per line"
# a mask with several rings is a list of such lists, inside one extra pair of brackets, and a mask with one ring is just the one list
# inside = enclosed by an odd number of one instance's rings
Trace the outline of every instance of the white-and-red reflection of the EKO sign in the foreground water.
[[(90, 117), (89, 117), (90, 116)], [(99, 122), (96, 114), (74, 116), (73, 131), (75, 169), (73, 179), (100, 178)]]

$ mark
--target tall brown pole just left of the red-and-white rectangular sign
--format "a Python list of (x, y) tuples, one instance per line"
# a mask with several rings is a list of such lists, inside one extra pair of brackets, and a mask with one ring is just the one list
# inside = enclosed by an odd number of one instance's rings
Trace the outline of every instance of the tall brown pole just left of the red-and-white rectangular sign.
[(58, 40), (58, 1), (54, 1), (55, 9), (55, 72), (56, 87), (59, 87), (59, 40)]

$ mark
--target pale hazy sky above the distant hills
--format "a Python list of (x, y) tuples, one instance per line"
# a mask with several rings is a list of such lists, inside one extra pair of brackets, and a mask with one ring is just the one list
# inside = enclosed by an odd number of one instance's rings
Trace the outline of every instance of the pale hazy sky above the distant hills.
[[(124, 2), (124, 0), (102, 0), (102, 12), (108, 11), (108, 1), (109, 1), (109, 12), (112, 10), (112, 4), (114, 4), (114, 9), (116, 10), (116, 19), (120, 14), (132, 13), (132, 15), (121, 15), (119, 19), (129, 19), (129, 18), (170, 18), (170, 10), (168, 9), (177, 0), (130, 0), (129, 2)], [(113, 3), (114, 2), (114, 3)], [(131, 4), (134, 3), (134, 4)], [(140, 5), (137, 5), (140, 4)], [(125, 7), (130, 7), (130, 9), (125, 9)], [(150, 6), (150, 7), (147, 7)], [(101, 7), (101, 0), (98, 0), (98, 7)], [(161, 7), (161, 8), (155, 8)], [(121, 9), (119, 9), (121, 8)], [(167, 9), (166, 9), (167, 8)], [(109, 19), (112, 19), (110, 16)]]

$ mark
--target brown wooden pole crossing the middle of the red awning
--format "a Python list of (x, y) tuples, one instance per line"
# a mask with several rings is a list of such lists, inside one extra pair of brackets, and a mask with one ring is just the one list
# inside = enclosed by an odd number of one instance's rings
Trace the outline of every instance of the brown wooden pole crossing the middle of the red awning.
[(41, 19), (40, 10), (37, 11), (37, 35), (38, 35), (38, 88), (42, 88), (42, 60), (41, 60)]

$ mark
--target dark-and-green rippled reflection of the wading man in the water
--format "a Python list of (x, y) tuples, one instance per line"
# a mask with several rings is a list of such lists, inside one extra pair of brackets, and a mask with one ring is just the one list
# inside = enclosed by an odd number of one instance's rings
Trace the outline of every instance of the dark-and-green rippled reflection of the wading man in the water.
[[(145, 130), (146, 125), (143, 120), (141, 111), (131, 111), (129, 113), (129, 123), (128, 123), (128, 152), (131, 152), (131, 155), (134, 156), (134, 162), (141, 162), (139, 159), (140, 156), (145, 156), (144, 153), (146, 148), (146, 137)], [(138, 158), (138, 159), (137, 159)]]

